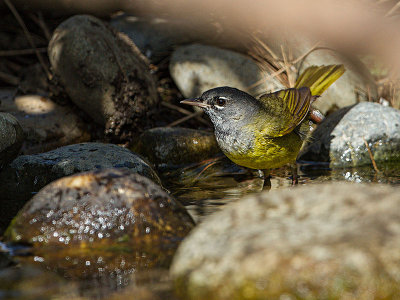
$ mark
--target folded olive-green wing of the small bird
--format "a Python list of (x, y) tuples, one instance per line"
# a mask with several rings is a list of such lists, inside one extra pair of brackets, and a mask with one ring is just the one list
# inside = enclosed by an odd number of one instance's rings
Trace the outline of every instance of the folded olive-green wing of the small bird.
[(279, 137), (290, 133), (307, 116), (312, 100), (310, 89), (307, 87), (262, 95), (259, 101), (263, 105), (263, 115), (266, 116), (260, 128), (263, 135)]

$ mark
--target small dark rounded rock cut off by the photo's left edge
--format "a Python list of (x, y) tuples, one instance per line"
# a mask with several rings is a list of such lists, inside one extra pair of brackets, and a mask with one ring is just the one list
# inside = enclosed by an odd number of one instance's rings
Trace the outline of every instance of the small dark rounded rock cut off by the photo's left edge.
[(0, 112), (0, 170), (19, 153), (24, 133), (18, 120)]

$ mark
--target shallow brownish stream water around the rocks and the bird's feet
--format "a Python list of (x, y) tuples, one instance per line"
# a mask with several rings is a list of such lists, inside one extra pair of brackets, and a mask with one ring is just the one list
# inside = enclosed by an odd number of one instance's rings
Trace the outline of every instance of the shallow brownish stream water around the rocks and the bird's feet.
[[(349, 169), (329, 169), (324, 164), (299, 165), (299, 184), (325, 181), (352, 181), (400, 184), (399, 165), (378, 165)], [(293, 188), (290, 170), (271, 172), (270, 188), (258, 173), (237, 167), (226, 160), (210, 160), (198, 165), (162, 173), (167, 188), (201, 222), (223, 205), (263, 189)], [(0, 299), (174, 299), (168, 277), (176, 244), (151, 249), (130, 245), (107, 251), (32, 252), (26, 246), (14, 250), (13, 266), (1, 263)], [(0, 250), (0, 253), (4, 254)], [(0, 262), (3, 258), (0, 259)]]

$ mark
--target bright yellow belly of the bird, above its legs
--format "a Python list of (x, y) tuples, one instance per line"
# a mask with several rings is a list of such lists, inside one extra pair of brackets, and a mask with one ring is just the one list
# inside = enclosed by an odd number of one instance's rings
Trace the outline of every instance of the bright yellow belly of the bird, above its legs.
[(294, 132), (276, 138), (266, 138), (256, 133), (251, 147), (241, 151), (223, 151), (238, 165), (252, 169), (273, 169), (295, 162), (301, 145), (300, 137)]

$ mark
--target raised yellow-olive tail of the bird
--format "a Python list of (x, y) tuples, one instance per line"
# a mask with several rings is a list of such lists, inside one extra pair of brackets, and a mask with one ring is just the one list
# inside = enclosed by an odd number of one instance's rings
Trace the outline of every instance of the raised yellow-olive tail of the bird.
[(343, 65), (311, 66), (300, 75), (294, 87), (308, 87), (311, 95), (320, 96), (344, 71)]

